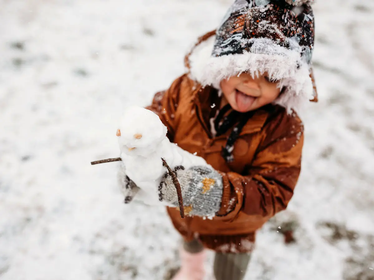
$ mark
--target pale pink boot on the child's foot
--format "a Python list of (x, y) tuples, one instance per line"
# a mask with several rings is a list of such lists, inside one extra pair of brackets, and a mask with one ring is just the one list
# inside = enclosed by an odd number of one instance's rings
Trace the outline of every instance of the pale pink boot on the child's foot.
[(205, 276), (204, 262), (206, 252), (188, 253), (180, 250), (181, 269), (172, 280), (203, 280)]

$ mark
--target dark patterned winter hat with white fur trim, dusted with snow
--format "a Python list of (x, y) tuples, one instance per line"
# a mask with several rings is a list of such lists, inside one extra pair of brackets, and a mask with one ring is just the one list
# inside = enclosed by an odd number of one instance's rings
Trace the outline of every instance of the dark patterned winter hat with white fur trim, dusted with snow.
[[(275, 100), (291, 112), (317, 101), (311, 58), (313, 0), (236, 0), (212, 36), (188, 58), (190, 75), (202, 85), (220, 87), (224, 78), (267, 72), (283, 93)], [(206, 39), (206, 38), (205, 38)], [(213, 50), (212, 50), (213, 49)]]

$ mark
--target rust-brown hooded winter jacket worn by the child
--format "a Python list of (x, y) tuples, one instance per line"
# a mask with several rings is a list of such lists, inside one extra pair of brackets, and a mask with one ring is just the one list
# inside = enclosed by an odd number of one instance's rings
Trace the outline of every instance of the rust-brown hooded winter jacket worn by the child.
[(248, 252), (255, 231), (292, 197), (300, 173), (303, 124), (278, 105), (258, 109), (234, 144), (234, 161), (228, 163), (221, 149), (231, 130), (219, 137), (210, 132), (215, 96), (214, 88), (202, 87), (185, 74), (157, 93), (147, 108), (159, 115), (172, 142), (196, 152), (223, 178), (221, 209), (212, 220), (181, 219), (176, 208), (168, 208), (168, 213), (186, 240), (198, 236), (215, 251)]

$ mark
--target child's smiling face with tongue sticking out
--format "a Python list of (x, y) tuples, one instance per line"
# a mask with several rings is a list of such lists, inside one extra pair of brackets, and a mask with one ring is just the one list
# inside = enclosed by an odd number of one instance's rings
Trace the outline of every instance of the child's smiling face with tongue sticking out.
[(221, 89), (227, 102), (238, 112), (248, 112), (272, 103), (281, 89), (277, 81), (270, 81), (267, 73), (254, 79), (248, 73), (221, 81)]

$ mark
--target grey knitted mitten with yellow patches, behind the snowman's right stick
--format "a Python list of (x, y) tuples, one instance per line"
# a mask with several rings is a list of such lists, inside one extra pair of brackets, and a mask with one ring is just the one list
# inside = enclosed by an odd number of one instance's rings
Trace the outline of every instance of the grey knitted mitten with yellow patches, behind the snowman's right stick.
[[(181, 185), (186, 215), (214, 216), (221, 208), (223, 183), (221, 175), (211, 167), (196, 166), (187, 170), (176, 167), (175, 174)], [(171, 176), (166, 173), (159, 187), (161, 201), (179, 207), (178, 196)]]

